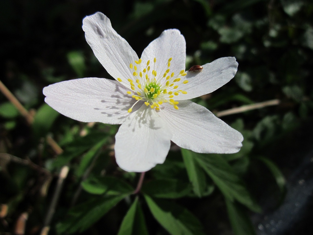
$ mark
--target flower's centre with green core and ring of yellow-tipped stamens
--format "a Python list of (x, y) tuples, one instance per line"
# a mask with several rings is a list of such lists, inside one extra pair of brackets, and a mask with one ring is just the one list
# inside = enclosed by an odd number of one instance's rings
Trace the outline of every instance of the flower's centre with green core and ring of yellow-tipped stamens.
[[(174, 96), (180, 94), (187, 94), (186, 91), (178, 89), (181, 84), (186, 84), (188, 81), (182, 81), (182, 77), (186, 76), (185, 70), (181, 70), (179, 74), (171, 72), (171, 60), (169, 58), (167, 64), (165, 64), (161, 70), (161, 74), (156, 71), (156, 58), (154, 58), (154, 65), (151, 71), (150, 60), (146, 62), (146, 65), (142, 65), (141, 59), (135, 60), (135, 65), (130, 64), (129, 67), (132, 70), (132, 78), (127, 81), (123, 81), (121, 78), (117, 78), (117, 81), (126, 83), (127, 87), (131, 88), (131, 91), (127, 91), (127, 94), (133, 94), (133, 98), (139, 102), (145, 101), (146, 106), (160, 110), (160, 105), (163, 102), (170, 103), (175, 109), (178, 109), (178, 102), (173, 99)], [(136, 102), (136, 103), (137, 103)], [(136, 104), (135, 103), (135, 104)], [(132, 111), (135, 104), (128, 109), (128, 112)]]

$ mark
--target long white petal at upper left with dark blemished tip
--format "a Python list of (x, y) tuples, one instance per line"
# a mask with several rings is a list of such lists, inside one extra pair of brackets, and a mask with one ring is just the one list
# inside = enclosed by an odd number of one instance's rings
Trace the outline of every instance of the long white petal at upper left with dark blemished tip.
[(112, 77), (121, 78), (129, 84), (127, 79), (132, 79), (133, 73), (129, 64), (138, 60), (138, 56), (128, 42), (112, 28), (110, 19), (100, 12), (86, 16), (83, 30), (87, 43), (101, 65)]

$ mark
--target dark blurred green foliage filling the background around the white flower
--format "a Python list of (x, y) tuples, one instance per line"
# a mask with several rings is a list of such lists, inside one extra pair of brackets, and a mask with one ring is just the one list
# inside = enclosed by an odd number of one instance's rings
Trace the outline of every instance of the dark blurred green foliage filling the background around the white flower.
[[(118, 126), (66, 118), (42, 94), (58, 81), (110, 78), (81, 29), (96, 11), (138, 55), (164, 29), (177, 28), (186, 39), (187, 69), (235, 56), (235, 78), (194, 99), (211, 111), (280, 104), (222, 117), (244, 135), (239, 153), (197, 154), (173, 145), (165, 163), (146, 173), (142, 192), (132, 195), (138, 176), (115, 163)], [(235, 235), (255, 234), (249, 214), (279, 206), (284, 175), (301, 161), (292, 153), (311, 146), (312, 18), (308, 0), (1, 1), (1, 81), (36, 114), (30, 126), (0, 96), (1, 212), (8, 206), (0, 233), (14, 232), (27, 212), (25, 234), (39, 234), (59, 170), (68, 165), (49, 234), (225, 234), (230, 226)], [(56, 156), (47, 136), (62, 154)]]

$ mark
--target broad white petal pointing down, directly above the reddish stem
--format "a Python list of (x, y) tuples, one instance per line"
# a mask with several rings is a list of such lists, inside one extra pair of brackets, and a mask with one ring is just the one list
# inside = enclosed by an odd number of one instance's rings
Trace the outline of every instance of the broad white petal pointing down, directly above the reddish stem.
[(172, 133), (155, 110), (142, 105), (126, 118), (115, 135), (116, 162), (129, 172), (150, 170), (164, 162), (171, 137)]

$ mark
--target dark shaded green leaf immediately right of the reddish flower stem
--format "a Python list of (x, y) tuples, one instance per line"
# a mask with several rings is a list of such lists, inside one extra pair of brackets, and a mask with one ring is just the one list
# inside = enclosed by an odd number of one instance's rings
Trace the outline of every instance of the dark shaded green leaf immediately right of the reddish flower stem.
[(158, 198), (179, 198), (192, 190), (189, 183), (177, 179), (152, 180), (142, 186), (146, 194)]

